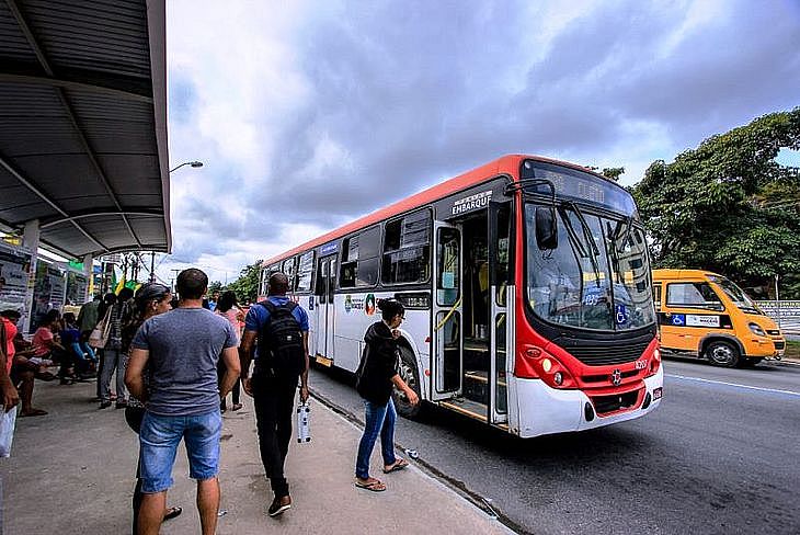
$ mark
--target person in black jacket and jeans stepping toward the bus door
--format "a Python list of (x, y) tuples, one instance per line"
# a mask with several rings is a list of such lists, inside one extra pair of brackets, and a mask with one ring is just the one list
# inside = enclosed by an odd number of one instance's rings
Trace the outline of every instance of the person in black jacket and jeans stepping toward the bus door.
[(361, 489), (382, 492), (386, 485), (369, 477), (369, 458), (375, 442), (380, 436), (380, 453), (384, 458), (384, 474), (402, 470), (409, 463), (395, 455), (395, 421), (397, 411), (391, 399), (392, 388), (402, 391), (411, 405), (420, 402), (416, 392), (398, 374), (400, 349), (398, 328), (405, 317), (402, 304), (380, 299), (378, 308), (381, 321), (369, 326), (364, 334), (364, 352), (356, 371), (356, 390), (364, 400), (364, 434), (358, 442), (355, 463), (355, 486)]

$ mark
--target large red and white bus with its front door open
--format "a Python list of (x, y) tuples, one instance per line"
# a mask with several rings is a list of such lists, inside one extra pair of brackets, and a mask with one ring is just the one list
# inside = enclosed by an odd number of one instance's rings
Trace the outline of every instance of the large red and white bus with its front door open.
[(644, 230), (631, 195), (582, 167), (505, 156), (265, 261), (262, 296), (274, 271), (309, 312), (318, 363), (354, 372), (376, 300), (396, 298), (420, 399), (515, 435), (660, 403)]

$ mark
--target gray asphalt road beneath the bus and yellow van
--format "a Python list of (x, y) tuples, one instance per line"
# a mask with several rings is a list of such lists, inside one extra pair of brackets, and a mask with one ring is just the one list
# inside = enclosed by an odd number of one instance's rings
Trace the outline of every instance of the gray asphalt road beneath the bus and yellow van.
[[(434, 409), (400, 419), (397, 441), (522, 533), (799, 533), (800, 366), (665, 372), (647, 419), (522, 441)], [(363, 419), (346, 378), (311, 380)]]

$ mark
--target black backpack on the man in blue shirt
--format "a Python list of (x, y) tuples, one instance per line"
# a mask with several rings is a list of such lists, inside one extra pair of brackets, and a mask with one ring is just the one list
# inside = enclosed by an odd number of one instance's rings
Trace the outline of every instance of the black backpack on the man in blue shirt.
[(270, 300), (259, 303), (270, 311), (270, 321), (259, 332), (256, 369), (271, 377), (297, 377), (306, 369), (306, 349), (300, 323), (292, 315), (296, 303), (275, 306)]

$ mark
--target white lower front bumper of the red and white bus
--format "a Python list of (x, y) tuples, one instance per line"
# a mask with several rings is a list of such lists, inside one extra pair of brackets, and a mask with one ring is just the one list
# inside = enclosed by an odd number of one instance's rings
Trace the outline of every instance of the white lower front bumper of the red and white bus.
[[(540, 379), (516, 379), (519, 436), (528, 439), (552, 433), (584, 431), (613, 423), (633, 420), (654, 411), (661, 405), (664, 386), (664, 368), (645, 377), (643, 389), (630, 409), (597, 414), (595, 405), (581, 390), (558, 390)], [(649, 403), (644, 402), (648, 399)], [(647, 405), (647, 407), (644, 407)], [(587, 410), (587, 406), (592, 408)]]

